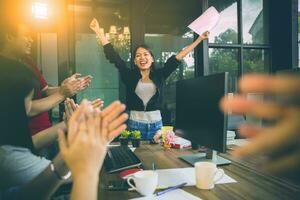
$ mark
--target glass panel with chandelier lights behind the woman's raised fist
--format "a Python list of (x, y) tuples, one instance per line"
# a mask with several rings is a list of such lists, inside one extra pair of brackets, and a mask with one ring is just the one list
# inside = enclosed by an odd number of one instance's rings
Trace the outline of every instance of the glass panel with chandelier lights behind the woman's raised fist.
[[(77, 95), (80, 102), (83, 98), (90, 100), (101, 98), (105, 106), (120, 99), (119, 73), (116, 67), (106, 59), (102, 45), (97, 44), (95, 33), (90, 30), (92, 16), (99, 20), (99, 25), (116, 51), (125, 60), (129, 60), (130, 30), (129, 8), (123, 4), (114, 4), (117, 13), (109, 12), (111, 7), (95, 7), (92, 2), (86, 3), (90, 9), (75, 6), (75, 69), (82, 75), (92, 75), (92, 84)], [(101, 12), (100, 12), (101, 11)], [(118, 16), (120, 17), (118, 17)]]

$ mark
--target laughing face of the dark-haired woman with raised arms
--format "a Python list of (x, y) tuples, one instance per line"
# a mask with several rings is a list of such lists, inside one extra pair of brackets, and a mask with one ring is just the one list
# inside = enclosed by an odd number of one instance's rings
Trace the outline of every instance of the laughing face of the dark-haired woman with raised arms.
[(153, 61), (153, 57), (150, 51), (148, 51), (147, 49), (139, 47), (136, 50), (134, 64), (138, 66), (140, 70), (149, 70)]

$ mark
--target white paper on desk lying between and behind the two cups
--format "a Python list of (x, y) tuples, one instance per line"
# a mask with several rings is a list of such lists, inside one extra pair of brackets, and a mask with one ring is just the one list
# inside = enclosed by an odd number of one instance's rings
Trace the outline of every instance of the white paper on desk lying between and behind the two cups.
[[(196, 185), (195, 168), (175, 168), (175, 169), (159, 169), (158, 187), (170, 187), (180, 183), (187, 183), (187, 186)], [(236, 183), (237, 181), (230, 176), (224, 174), (223, 178), (216, 184)]]

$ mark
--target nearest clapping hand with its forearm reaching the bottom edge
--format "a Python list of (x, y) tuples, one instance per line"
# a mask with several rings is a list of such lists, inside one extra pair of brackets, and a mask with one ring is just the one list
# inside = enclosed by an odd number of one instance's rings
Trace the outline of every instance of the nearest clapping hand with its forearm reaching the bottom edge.
[[(126, 125), (122, 125), (109, 131), (113, 124), (108, 126), (112, 117), (108, 114), (112, 113), (113, 107), (105, 109), (99, 115), (97, 111), (87, 112), (87, 105), (83, 102), (69, 121), (70, 131), (75, 132), (69, 132), (67, 139), (62, 131), (59, 133), (60, 152), (72, 172), (74, 182), (72, 200), (97, 199), (99, 172), (106, 155), (106, 147), (126, 128)], [(119, 118), (123, 122), (122, 116)]]

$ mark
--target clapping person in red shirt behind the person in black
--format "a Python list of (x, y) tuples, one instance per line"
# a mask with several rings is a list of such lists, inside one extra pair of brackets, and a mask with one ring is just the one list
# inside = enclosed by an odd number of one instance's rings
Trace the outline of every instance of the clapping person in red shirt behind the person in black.
[[(47, 112), (66, 98), (72, 97), (87, 88), (91, 83), (92, 77), (81, 77), (80, 74), (74, 74), (65, 79), (60, 87), (48, 87), (35, 63), (32, 59), (28, 59), (31, 54), (31, 45), (33, 42), (30, 27), (26, 24), (22, 24), (19, 29), (10, 31), (14, 33), (14, 37), (11, 35), (2, 35), (3, 37), (1, 37), (3, 40), (0, 40), (0, 44), (6, 45), (6, 48), (2, 50), (1, 54), (8, 55), (9, 58), (21, 61), (24, 64), (27, 64), (27, 66), (31, 66), (29, 68), (32, 68), (40, 79), (40, 86), (34, 91), (35, 100), (30, 102), (28, 110), (26, 111), (28, 117), (31, 118), (36, 116), (32, 118), (32, 121), (30, 122), (32, 134), (41, 131), (41, 135), (45, 134), (49, 138), (56, 137), (57, 129), (65, 129), (66, 124), (61, 122), (49, 128), (51, 123)], [(2, 34), (2, 32), (0, 33)], [(43, 93), (45, 93), (45, 95), (43, 95)]]

